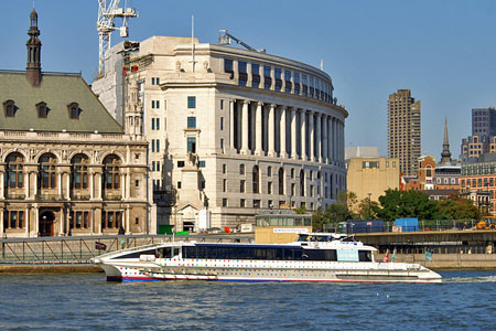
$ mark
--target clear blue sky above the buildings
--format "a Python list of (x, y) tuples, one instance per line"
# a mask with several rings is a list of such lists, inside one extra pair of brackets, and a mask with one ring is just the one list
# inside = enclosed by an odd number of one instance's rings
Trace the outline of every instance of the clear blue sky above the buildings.
[[(109, 0), (108, 0), (109, 1)], [(471, 109), (496, 106), (496, 1), (477, 0), (121, 0), (139, 12), (129, 39), (191, 35), (217, 43), (218, 31), (255, 49), (324, 64), (334, 96), (349, 111), (346, 147), (377, 146), (387, 157), (387, 102), (411, 89), (422, 104), (422, 154), (440, 159), (444, 119), (451, 152), (471, 135)], [(31, 0), (0, 0), (0, 68), (25, 70)], [(42, 70), (98, 71), (97, 0), (36, 0)], [(8, 14), (6, 14), (8, 13)], [(120, 21), (117, 21), (120, 24)], [(112, 34), (112, 45), (122, 41)]]

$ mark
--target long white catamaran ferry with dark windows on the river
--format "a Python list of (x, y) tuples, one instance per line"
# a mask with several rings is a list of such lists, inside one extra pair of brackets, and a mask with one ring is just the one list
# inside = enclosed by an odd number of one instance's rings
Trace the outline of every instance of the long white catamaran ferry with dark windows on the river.
[(376, 248), (336, 234), (300, 234), (289, 244), (172, 242), (93, 259), (107, 280), (440, 282), (421, 265), (376, 261)]

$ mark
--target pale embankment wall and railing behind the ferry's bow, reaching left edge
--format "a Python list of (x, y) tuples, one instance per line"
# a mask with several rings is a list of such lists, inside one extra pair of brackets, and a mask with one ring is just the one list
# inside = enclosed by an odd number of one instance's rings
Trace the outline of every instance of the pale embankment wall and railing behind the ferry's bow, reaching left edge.
[[(89, 264), (89, 259), (110, 252), (170, 242), (249, 243), (238, 235), (108, 235), (0, 239), (0, 264), (64, 265)], [(104, 249), (105, 248), (105, 249)]]

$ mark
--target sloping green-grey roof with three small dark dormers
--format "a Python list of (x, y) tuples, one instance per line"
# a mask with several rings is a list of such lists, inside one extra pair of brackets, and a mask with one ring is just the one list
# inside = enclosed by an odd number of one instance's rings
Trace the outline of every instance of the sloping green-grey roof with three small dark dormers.
[[(13, 100), (14, 117), (6, 117), (3, 103)], [(46, 118), (39, 118), (36, 104), (44, 102)], [(79, 105), (79, 119), (71, 119), (67, 106)], [(0, 130), (122, 134), (122, 127), (105, 109), (80, 75), (43, 74), (33, 87), (25, 72), (0, 72)]]

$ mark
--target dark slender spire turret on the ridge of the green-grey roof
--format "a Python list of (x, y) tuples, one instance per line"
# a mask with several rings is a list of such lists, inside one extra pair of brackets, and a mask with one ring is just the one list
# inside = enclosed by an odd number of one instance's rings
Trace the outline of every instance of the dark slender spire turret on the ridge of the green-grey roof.
[(39, 86), (41, 83), (41, 41), (37, 39), (40, 35), (40, 30), (37, 30), (37, 13), (34, 9), (30, 14), (31, 26), (28, 30), (28, 35), (30, 39), (26, 42), (28, 47), (28, 66), (25, 75), (28, 81), (33, 86)]

